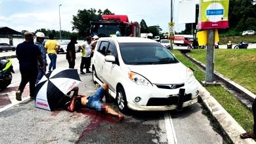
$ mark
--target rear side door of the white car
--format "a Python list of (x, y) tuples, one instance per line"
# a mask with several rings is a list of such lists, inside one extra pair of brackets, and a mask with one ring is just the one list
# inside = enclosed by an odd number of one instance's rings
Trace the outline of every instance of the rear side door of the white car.
[(106, 49), (108, 48), (108, 45), (108, 41), (100, 41), (100, 46), (98, 46), (97, 54), (95, 55), (95, 71), (100, 81), (103, 81), (103, 65), (105, 63)]

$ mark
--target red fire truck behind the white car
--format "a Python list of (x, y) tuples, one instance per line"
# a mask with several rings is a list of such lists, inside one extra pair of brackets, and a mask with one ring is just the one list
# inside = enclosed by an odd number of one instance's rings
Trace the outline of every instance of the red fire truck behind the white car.
[(91, 21), (89, 35), (98, 37), (140, 37), (140, 25), (129, 22), (126, 15), (102, 15)]

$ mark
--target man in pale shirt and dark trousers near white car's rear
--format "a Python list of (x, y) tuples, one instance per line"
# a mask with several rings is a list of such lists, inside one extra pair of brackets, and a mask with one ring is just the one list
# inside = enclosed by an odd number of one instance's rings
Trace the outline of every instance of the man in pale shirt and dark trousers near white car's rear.
[(91, 73), (89, 71), (89, 67), (91, 65), (91, 49), (92, 49), (92, 39), (91, 36), (86, 37), (86, 41), (82, 43), (81, 45), (81, 65), (80, 65), (80, 73), (82, 75), (85, 75), (83, 72), (83, 65), (85, 65), (86, 73)]

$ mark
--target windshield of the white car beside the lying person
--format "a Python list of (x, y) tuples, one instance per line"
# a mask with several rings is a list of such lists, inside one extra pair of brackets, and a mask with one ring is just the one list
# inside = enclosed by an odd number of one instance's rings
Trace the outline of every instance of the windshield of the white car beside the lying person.
[(154, 65), (179, 63), (179, 61), (159, 43), (119, 43), (121, 57), (127, 65)]

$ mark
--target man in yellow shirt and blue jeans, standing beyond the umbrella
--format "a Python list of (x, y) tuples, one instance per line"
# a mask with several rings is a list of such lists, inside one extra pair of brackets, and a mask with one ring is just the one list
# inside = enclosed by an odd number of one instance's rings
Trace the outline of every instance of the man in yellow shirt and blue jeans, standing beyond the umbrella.
[(52, 71), (52, 67), (53, 67), (53, 70), (56, 69), (57, 52), (58, 52), (58, 49), (60, 48), (60, 45), (58, 44), (58, 42), (53, 40), (53, 38), (54, 38), (54, 35), (52, 34), (49, 35), (50, 40), (48, 40), (45, 43), (45, 49), (47, 50), (47, 54), (51, 60), (51, 63), (49, 65), (49, 72)]

